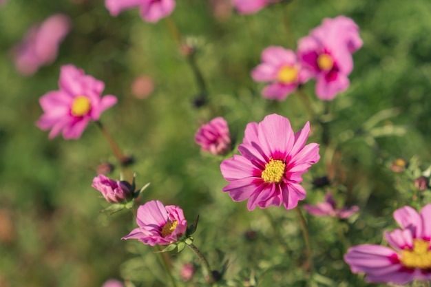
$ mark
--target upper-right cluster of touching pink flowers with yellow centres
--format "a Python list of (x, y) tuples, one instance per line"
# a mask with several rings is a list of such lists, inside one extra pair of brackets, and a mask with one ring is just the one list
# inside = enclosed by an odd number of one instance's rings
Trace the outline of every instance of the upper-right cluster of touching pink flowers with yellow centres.
[(262, 96), (284, 100), (298, 85), (316, 80), (315, 93), (333, 100), (344, 92), (353, 70), (352, 54), (362, 46), (356, 23), (344, 16), (324, 19), (322, 25), (299, 39), (297, 51), (271, 46), (262, 52), (262, 63), (251, 72), (257, 82), (269, 82)]

